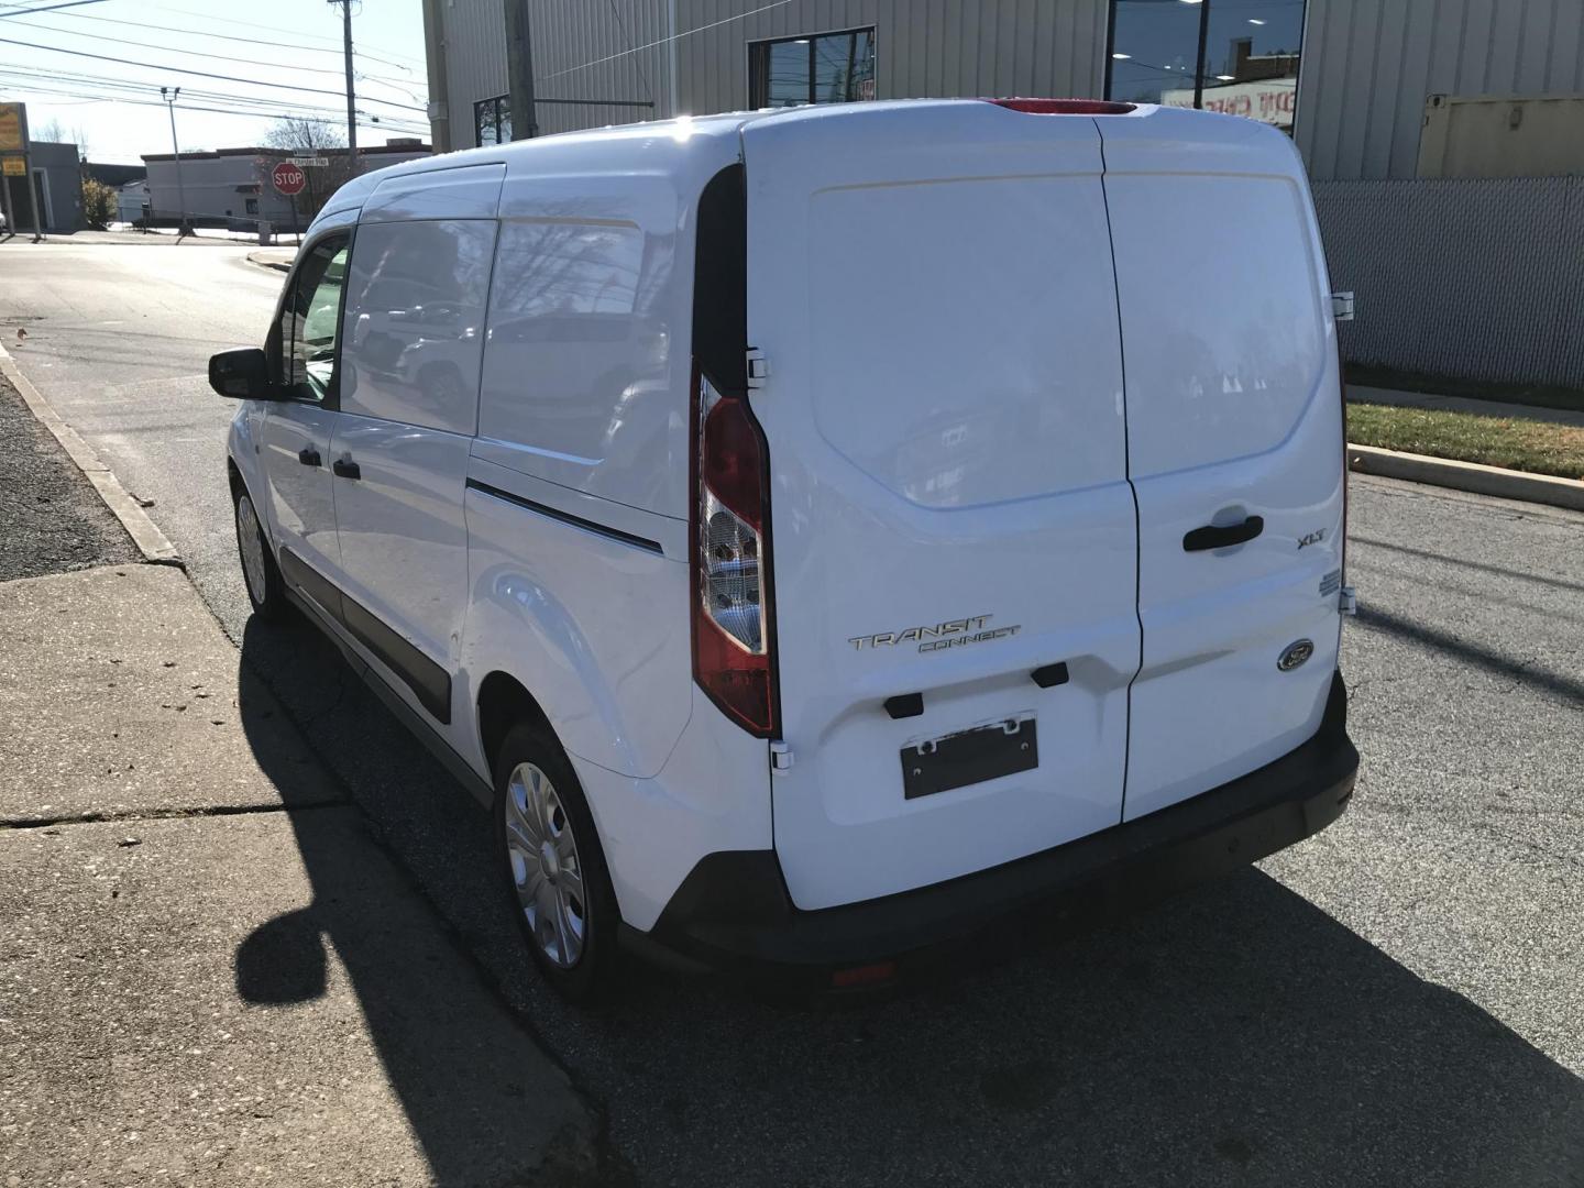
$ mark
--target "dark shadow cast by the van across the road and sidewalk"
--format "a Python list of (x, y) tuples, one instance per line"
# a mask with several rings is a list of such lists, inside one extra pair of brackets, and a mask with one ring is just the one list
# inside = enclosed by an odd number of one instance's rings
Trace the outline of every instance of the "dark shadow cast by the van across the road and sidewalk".
[[(604, 1106), (640, 1183), (1584, 1182), (1584, 1082), (1256, 870), (893, 1001), (789, 1011), (637, 968), (607, 1012), (572, 1011), (518, 947), (486, 816), (333, 645), (253, 621), (242, 664)], [(406, 1009), (428, 971), (358, 935), (329, 817), (293, 821), (317, 898), (244, 944), (239, 985), (312, 998), (326, 938), (437, 1180), (474, 1182), (535, 1102), (458, 1099), (469, 1022)]]

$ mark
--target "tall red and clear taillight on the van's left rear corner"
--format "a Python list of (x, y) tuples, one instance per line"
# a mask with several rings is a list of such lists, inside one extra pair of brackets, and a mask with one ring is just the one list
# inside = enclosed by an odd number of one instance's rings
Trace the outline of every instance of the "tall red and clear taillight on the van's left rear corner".
[(748, 402), (694, 369), (694, 680), (760, 738), (776, 730), (767, 450)]

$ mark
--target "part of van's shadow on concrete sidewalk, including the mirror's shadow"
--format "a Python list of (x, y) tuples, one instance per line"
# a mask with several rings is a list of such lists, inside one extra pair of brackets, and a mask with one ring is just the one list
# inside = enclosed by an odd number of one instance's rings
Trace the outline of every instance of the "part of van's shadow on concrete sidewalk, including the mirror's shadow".
[[(258, 630), (250, 627), (249, 640)], [(318, 672), (334, 683), (334, 665)], [(261, 1007), (323, 998), (329, 949), (437, 1183), (610, 1183), (616, 1169), (600, 1161), (597, 1112), (545, 1055), (524, 1017), (480, 976), (410, 873), (375, 843), (369, 822), (355, 809), (298, 809), (325, 779), (304, 763), (295, 732), (280, 730), (277, 705), (244, 662), (242, 729), (288, 809), (296, 852), (280, 860), (303, 863), (312, 901), (242, 941), (238, 995)], [(356, 1118), (337, 1115), (336, 1102), (325, 1110), (333, 1125), (323, 1134), (356, 1133)], [(386, 1174), (371, 1167), (367, 1183), (386, 1183)]]

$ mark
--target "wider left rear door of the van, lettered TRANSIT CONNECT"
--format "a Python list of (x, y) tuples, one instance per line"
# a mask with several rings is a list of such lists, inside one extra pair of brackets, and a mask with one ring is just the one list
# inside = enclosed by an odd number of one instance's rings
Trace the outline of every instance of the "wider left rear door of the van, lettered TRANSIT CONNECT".
[(1115, 825), (1140, 642), (1095, 120), (808, 109), (743, 158), (794, 901)]

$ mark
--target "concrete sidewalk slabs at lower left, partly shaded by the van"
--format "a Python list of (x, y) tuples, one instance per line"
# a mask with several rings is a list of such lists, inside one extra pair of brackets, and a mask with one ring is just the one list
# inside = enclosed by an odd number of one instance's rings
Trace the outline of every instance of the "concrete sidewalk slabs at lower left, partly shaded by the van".
[(0, 583), (0, 1183), (596, 1180), (594, 1114), (184, 573)]

